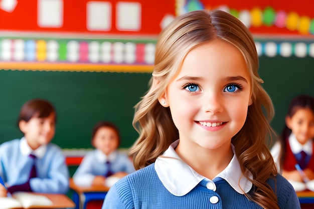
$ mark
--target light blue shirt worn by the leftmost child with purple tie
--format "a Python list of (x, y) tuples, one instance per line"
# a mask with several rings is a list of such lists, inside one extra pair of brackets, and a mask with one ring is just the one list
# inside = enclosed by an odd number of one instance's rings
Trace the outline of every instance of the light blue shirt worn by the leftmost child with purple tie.
[[(36, 156), (35, 161), (30, 154)], [(32, 150), (24, 137), (7, 141), (0, 145), (0, 162), (0, 176), (8, 187), (26, 183), (35, 162), (36, 177), (30, 179), (32, 191), (66, 193), (69, 190), (65, 156), (56, 144), (49, 143)]]

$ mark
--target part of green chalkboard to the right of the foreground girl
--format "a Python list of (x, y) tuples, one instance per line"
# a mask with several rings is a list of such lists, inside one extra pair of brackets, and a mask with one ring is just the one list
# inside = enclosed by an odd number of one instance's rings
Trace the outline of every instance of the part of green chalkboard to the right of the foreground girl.
[(264, 80), (263, 87), (275, 107), (275, 117), (271, 125), (280, 134), (290, 100), (300, 94), (314, 97), (312, 88), (314, 58), (308, 56), (304, 58), (261, 56), (259, 62), (259, 75)]

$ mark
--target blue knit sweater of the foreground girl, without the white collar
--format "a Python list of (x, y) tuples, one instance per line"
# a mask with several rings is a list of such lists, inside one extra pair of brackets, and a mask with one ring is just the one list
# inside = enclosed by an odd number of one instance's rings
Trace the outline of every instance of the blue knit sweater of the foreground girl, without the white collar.
[[(280, 208), (298, 209), (299, 200), (291, 184), (280, 174), (276, 176), (277, 198)], [(268, 180), (274, 188), (275, 182)], [(187, 208), (187, 209), (254, 209), (262, 208), (250, 201), (244, 194), (236, 192), (224, 179), (216, 184), (216, 191), (208, 189), (201, 181), (184, 196), (170, 193), (159, 179), (154, 163), (122, 178), (108, 191), (102, 209), (117, 208)], [(211, 197), (217, 196), (218, 201)], [(212, 203), (214, 202), (214, 203)]]

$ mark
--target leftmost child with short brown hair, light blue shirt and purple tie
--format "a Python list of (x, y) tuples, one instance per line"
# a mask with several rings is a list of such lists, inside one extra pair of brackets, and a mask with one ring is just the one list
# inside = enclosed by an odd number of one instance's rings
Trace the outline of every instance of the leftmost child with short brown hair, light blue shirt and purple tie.
[[(55, 135), (56, 120), (56, 111), (46, 100), (33, 99), (23, 105), (18, 126), (24, 137), (0, 146), (0, 176), (10, 193), (68, 191), (69, 173), (65, 156), (60, 147), (50, 143)], [(5, 188), (0, 187), (2, 190)]]

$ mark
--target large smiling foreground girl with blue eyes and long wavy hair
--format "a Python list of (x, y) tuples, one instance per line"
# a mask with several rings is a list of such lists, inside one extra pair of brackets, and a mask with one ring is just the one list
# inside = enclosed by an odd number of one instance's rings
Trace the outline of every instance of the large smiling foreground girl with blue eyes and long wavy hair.
[[(222, 11), (175, 19), (156, 44), (152, 85), (137, 104), (137, 170), (107, 208), (300, 208), (265, 145), (273, 107), (248, 29)], [(178, 140), (177, 140), (178, 139)]]

